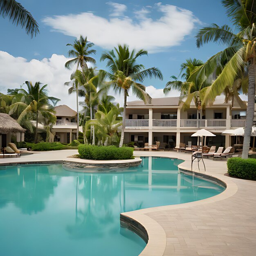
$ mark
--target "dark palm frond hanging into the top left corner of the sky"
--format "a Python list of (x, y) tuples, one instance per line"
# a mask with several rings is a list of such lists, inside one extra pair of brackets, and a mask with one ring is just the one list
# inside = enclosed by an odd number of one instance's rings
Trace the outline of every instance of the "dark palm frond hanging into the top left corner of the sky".
[(38, 23), (31, 13), (15, 0), (0, 0), (0, 15), (3, 18), (9, 17), (16, 26), (25, 27), (26, 33), (30, 34), (31, 38), (39, 33)]

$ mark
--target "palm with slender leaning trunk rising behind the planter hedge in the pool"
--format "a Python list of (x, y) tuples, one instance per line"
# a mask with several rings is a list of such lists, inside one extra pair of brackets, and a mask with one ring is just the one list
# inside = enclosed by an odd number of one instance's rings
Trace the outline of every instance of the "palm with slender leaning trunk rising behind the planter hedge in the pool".
[[(114, 52), (115, 50), (115, 52)], [(100, 70), (101, 77), (107, 76), (111, 82), (110, 85), (121, 93), (124, 92), (124, 113), (123, 113), (123, 126), (119, 146), (123, 145), (124, 141), (124, 129), (125, 129), (125, 116), (126, 116), (126, 101), (128, 90), (131, 88), (132, 92), (144, 102), (150, 102), (151, 97), (145, 92), (146, 87), (140, 83), (146, 78), (157, 78), (162, 80), (163, 75), (157, 67), (150, 67), (145, 69), (144, 65), (137, 64), (137, 58), (140, 56), (148, 55), (148, 52), (144, 49), (135, 52), (129, 51), (127, 45), (118, 45), (118, 49), (115, 47), (110, 52), (104, 52), (101, 55), (100, 61), (107, 60), (109, 72)], [(137, 83), (139, 81), (140, 83)]]

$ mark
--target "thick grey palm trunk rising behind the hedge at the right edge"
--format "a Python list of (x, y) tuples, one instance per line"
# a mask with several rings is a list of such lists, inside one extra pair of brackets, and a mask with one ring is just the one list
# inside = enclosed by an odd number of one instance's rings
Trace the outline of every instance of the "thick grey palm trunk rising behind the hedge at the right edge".
[(250, 140), (252, 135), (252, 125), (254, 119), (254, 103), (255, 103), (255, 78), (256, 78), (256, 65), (250, 64), (248, 67), (248, 106), (246, 111), (245, 121), (245, 135), (243, 143), (242, 158), (247, 159), (249, 154)]

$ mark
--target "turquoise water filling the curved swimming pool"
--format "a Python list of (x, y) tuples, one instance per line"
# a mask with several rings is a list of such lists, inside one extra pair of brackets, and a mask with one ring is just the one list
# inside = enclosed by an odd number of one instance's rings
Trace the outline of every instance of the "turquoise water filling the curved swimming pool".
[(181, 162), (145, 157), (114, 173), (74, 173), (61, 164), (0, 167), (0, 255), (138, 255), (146, 244), (120, 227), (121, 212), (224, 190), (178, 173)]

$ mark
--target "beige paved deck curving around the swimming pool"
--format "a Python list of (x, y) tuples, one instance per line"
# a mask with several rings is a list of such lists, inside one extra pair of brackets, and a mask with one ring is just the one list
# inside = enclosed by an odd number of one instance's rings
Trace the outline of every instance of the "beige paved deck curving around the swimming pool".
[[(20, 158), (1, 159), (0, 164), (70, 161), (68, 156), (74, 154), (77, 154), (77, 150), (49, 151)], [(184, 160), (178, 166), (180, 169), (191, 169), (191, 154), (139, 151), (135, 155), (175, 157)], [(225, 159), (214, 162), (212, 159), (205, 159), (204, 163), (206, 175), (216, 177), (227, 185), (227, 189), (221, 194), (185, 204), (124, 213), (140, 222), (148, 233), (148, 244), (141, 256), (255, 255), (256, 182), (225, 176)]]

